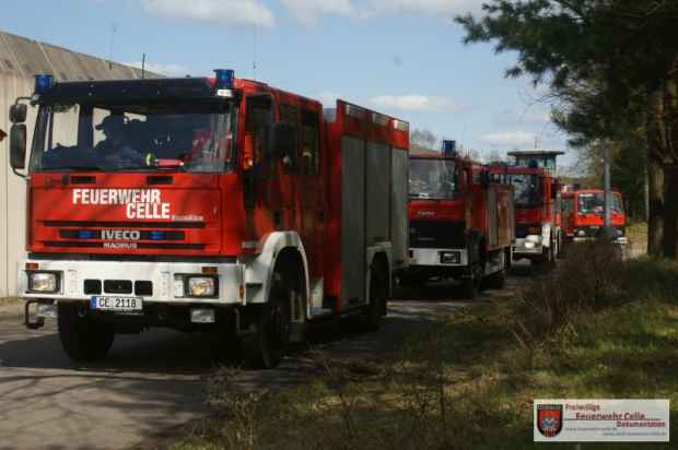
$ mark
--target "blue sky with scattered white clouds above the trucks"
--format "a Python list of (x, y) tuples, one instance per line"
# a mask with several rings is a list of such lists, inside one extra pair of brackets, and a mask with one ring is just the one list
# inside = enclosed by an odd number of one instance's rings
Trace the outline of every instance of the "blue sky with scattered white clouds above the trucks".
[(565, 149), (539, 91), (504, 78), (515, 56), (461, 44), (452, 19), (481, 0), (3, 3), (0, 29), (127, 63), (145, 52), (150, 69), (170, 75), (232, 68), (253, 78), (256, 36), (256, 78), (325, 106), (340, 96), (480, 154), (533, 149), (535, 139)]

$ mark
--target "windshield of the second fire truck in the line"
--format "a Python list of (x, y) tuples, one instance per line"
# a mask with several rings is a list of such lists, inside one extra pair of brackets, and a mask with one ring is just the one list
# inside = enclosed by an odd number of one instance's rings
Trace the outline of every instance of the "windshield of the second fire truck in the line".
[(454, 161), (410, 159), (410, 198), (446, 200), (456, 192)]

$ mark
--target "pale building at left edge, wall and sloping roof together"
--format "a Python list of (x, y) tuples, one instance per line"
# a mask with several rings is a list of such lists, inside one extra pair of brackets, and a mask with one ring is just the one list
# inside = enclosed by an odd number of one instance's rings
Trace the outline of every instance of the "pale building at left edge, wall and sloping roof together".
[[(0, 32), (0, 129), (8, 134), (9, 108), (33, 93), (34, 75), (59, 81), (140, 79), (139, 69)], [(147, 72), (147, 78), (157, 75)], [(28, 139), (36, 111), (28, 109)], [(9, 138), (0, 143), (0, 298), (16, 295), (16, 264), (25, 256), (26, 183), (9, 165)]]

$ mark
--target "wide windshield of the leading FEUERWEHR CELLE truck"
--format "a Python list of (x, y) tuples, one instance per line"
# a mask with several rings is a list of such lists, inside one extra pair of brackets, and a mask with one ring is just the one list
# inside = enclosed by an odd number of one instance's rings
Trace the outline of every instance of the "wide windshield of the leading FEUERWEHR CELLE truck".
[(32, 170), (231, 170), (234, 117), (221, 103), (43, 106)]

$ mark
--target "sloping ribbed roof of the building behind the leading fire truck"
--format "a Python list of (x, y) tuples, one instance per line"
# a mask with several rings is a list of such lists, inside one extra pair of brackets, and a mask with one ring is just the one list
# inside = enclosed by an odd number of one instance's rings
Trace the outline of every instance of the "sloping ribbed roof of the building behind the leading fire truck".
[[(0, 32), (0, 73), (25, 78), (49, 73), (58, 81), (141, 78), (139, 69), (4, 32)], [(145, 78), (161, 75), (147, 71)]]

